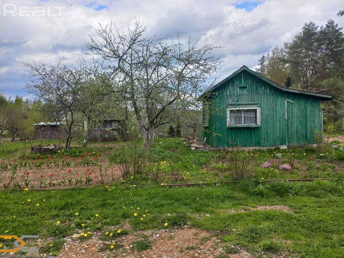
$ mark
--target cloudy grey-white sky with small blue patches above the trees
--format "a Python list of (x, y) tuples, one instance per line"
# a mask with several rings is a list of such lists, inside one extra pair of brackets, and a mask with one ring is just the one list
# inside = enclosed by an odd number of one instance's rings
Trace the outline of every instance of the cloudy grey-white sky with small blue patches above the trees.
[[(33, 17), (34, 6), (52, 15)], [(344, 17), (336, 16), (341, 9), (343, 0), (0, 0), (0, 91), (33, 98), (20, 61), (64, 57), (74, 63), (94, 28), (111, 20), (123, 31), (140, 19), (150, 34), (173, 39), (179, 32), (222, 46), (220, 80), (244, 64), (255, 68), (259, 57), (291, 40), (305, 23), (334, 19), (343, 27)]]

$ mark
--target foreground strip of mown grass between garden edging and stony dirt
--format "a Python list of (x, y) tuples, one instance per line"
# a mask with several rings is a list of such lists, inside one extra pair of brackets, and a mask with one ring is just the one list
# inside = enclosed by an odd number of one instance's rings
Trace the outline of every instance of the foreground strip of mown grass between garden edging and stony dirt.
[[(0, 233), (8, 230), (6, 234), (39, 234), (40, 238), (53, 237), (59, 241), (78, 230), (107, 230), (110, 226), (121, 228), (125, 223), (131, 225), (132, 231), (164, 229), (164, 224), (168, 223), (167, 228), (170, 229), (190, 225), (219, 230), (224, 245), (238, 246), (252, 253), (285, 250), (299, 257), (343, 257), (342, 181), (288, 182), (287, 194), (283, 195), (270, 184), (260, 186), (254, 182), (189, 188), (123, 189), (114, 186), (1, 191)], [(292, 212), (273, 209), (228, 212), (232, 208), (258, 204), (284, 204)], [(135, 213), (137, 216), (134, 216)], [(194, 214), (210, 216), (196, 218)], [(60, 223), (57, 224), (57, 221)], [(81, 224), (85, 226), (79, 226)], [(106, 237), (114, 239), (110, 241), (116, 239), (115, 236)], [(137, 241), (140, 241), (134, 243), (137, 250), (148, 248), (146, 239)], [(53, 246), (60, 245), (53, 243)], [(46, 246), (46, 251), (54, 252), (53, 246)]]

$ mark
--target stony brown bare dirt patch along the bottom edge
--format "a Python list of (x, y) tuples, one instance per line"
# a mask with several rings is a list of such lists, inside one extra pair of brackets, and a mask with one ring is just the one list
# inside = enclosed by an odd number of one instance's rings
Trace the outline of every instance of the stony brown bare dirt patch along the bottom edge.
[[(133, 242), (146, 235), (150, 241), (151, 248), (141, 252), (133, 251)], [(84, 243), (72, 238), (66, 238), (66, 243), (57, 258), (100, 258), (100, 257), (152, 257), (152, 258), (209, 258), (226, 255), (226, 251), (220, 245), (220, 240), (212, 236), (210, 232), (195, 229), (174, 230), (146, 230), (137, 231), (132, 234), (115, 238), (114, 242), (120, 248), (110, 249), (110, 242), (99, 240), (100, 233), (92, 236), (92, 239)], [(223, 246), (223, 244), (222, 244)], [(107, 250), (104, 250), (105, 247)], [(228, 255), (230, 258), (251, 258), (252, 256), (244, 250), (237, 250), (237, 254)]]

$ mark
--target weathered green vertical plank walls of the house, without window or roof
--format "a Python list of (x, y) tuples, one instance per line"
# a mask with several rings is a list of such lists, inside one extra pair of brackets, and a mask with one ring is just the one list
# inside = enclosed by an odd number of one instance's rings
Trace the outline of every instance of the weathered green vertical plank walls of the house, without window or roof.
[[(286, 98), (294, 102), (287, 102), (287, 119)], [(227, 108), (233, 105), (243, 107), (244, 104), (260, 108), (260, 127), (227, 127)], [(247, 71), (214, 89), (209, 109), (203, 139), (214, 147), (229, 146), (229, 139), (241, 146), (315, 143), (313, 129), (322, 130), (318, 98), (282, 91)]]

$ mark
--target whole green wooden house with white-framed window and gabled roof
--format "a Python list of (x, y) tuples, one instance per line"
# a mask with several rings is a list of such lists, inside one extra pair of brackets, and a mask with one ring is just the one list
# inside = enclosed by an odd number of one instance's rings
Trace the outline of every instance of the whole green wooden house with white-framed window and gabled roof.
[(315, 143), (320, 101), (333, 96), (283, 87), (242, 66), (204, 92), (203, 140), (213, 147)]

